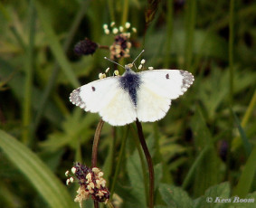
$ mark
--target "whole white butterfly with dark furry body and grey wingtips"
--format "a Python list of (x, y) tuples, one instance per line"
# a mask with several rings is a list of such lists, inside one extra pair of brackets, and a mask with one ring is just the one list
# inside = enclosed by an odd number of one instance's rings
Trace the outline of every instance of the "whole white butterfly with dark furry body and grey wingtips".
[(129, 66), (122, 76), (95, 80), (73, 90), (71, 103), (99, 113), (112, 126), (124, 126), (136, 119), (154, 122), (166, 116), (171, 100), (183, 95), (194, 81), (188, 71), (134, 72)]

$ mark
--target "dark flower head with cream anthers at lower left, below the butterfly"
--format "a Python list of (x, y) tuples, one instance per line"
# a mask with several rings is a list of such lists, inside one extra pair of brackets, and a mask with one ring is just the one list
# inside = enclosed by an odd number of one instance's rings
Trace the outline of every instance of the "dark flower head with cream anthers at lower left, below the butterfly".
[[(74, 199), (75, 202), (82, 205), (82, 201), (90, 197), (99, 203), (107, 203), (109, 200), (109, 190), (106, 187), (106, 181), (103, 179), (103, 172), (98, 167), (90, 168), (80, 163), (75, 163), (71, 168), (74, 176), (67, 179), (66, 184), (73, 182), (74, 178), (78, 180), (80, 187)], [(66, 172), (66, 174), (69, 172)], [(65, 174), (65, 175), (66, 175)]]

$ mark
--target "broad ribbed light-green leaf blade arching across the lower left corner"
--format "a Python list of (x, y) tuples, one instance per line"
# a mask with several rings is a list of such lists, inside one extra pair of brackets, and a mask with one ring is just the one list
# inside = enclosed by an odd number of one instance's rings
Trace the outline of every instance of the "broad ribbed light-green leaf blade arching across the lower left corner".
[(72, 207), (71, 196), (65, 186), (29, 148), (3, 130), (0, 130), (0, 147), (50, 207)]

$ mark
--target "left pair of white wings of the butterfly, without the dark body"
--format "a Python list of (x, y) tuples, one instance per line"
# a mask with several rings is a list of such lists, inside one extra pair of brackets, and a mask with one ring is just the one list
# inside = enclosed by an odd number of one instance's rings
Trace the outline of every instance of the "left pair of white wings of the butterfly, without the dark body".
[(103, 120), (113, 126), (123, 126), (136, 119), (134, 105), (128, 92), (120, 88), (119, 77), (83, 85), (71, 92), (70, 100), (85, 111), (98, 112)]

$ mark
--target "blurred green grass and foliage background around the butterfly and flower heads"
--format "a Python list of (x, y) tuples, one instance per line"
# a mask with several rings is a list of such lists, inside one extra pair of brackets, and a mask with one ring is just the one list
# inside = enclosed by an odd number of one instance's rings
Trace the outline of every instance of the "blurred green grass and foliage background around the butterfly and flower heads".
[[(145, 49), (146, 66), (194, 74), (166, 118), (143, 124), (156, 207), (233, 205), (206, 203), (206, 196), (256, 199), (255, 1), (3, 0), (0, 207), (79, 207), (72, 203), (78, 185), (65, 187), (64, 173), (74, 161), (90, 166), (100, 117), (73, 106), (69, 95), (113, 65), (103, 59), (109, 50), (80, 57), (73, 47), (85, 37), (111, 45), (114, 35), (102, 25), (113, 21), (137, 28), (121, 64)], [(147, 207), (147, 164), (136, 132), (134, 124), (105, 124), (101, 132), (98, 166), (119, 196), (116, 207)]]

